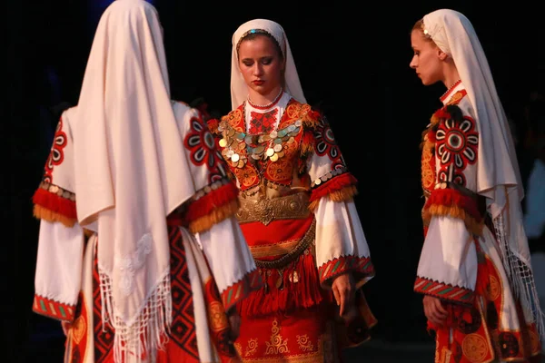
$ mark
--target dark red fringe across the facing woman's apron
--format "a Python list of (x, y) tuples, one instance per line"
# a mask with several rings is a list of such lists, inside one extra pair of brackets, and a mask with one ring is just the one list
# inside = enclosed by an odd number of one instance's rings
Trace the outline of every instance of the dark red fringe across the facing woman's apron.
[[(290, 274), (297, 271), (299, 281), (290, 281)], [(276, 288), (280, 274), (276, 269), (260, 269), (265, 288), (253, 291), (238, 305), (239, 313), (246, 317), (258, 318), (274, 313), (292, 313), (295, 309), (318, 306), (322, 301), (332, 301), (331, 291), (320, 287), (318, 270), (312, 253), (302, 253), (282, 273), (282, 287)], [(270, 273), (270, 275), (269, 275)]]

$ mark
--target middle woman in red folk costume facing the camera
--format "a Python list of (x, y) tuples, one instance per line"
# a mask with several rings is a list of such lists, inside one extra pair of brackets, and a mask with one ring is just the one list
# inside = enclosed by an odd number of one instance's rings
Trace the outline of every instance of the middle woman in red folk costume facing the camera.
[(305, 103), (281, 25), (255, 19), (233, 34), (231, 96), (233, 111), (209, 126), (265, 281), (238, 306), (235, 347), (244, 362), (338, 361), (375, 323), (360, 289), (374, 270), (356, 180), (326, 119)]

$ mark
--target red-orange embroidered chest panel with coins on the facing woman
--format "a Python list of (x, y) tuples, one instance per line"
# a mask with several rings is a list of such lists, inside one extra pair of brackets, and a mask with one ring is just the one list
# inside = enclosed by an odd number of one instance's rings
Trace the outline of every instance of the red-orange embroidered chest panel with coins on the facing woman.
[[(220, 140), (223, 158), (243, 191), (259, 184), (262, 179), (289, 185), (302, 154), (302, 116), (311, 107), (291, 100), (276, 130), (271, 127), (276, 114), (253, 114), (253, 119), (259, 121), (259, 128), (253, 123), (247, 132), (244, 104), (223, 116), (218, 128), (223, 135)], [(256, 131), (262, 132), (253, 133)]]

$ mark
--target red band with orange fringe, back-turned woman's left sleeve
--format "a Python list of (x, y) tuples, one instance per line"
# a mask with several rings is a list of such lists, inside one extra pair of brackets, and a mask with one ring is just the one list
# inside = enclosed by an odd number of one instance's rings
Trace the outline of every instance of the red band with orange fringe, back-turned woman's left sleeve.
[(73, 227), (77, 221), (75, 194), (49, 182), (41, 182), (33, 196), (34, 215), (45, 221), (60, 221)]

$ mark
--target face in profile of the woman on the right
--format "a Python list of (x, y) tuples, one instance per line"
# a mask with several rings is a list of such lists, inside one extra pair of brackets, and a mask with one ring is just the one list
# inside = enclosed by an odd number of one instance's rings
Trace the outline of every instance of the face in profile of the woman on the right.
[(409, 66), (416, 71), (422, 84), (431, 85), (444, 78), (441, 49), (424, 37), (421, 30), (411, 32), (411, 47), (414, 52)]

